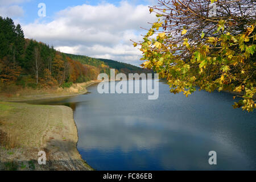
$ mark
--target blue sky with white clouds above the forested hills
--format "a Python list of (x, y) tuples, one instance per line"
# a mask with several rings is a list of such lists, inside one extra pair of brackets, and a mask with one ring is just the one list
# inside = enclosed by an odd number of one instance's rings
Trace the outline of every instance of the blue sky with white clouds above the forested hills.
[[(40, 3), (46, 16), (38, 15)], [(44, 42), (55, 49), (78, 55), (113, 59), (140, 65), (138, 42), (156, 16), (148, 6), (157, 0), (0, 0), (0, 16), (21, 24), (26, 38)], [(42, 11), (40, 11), (42, 12)]]

